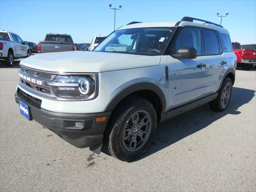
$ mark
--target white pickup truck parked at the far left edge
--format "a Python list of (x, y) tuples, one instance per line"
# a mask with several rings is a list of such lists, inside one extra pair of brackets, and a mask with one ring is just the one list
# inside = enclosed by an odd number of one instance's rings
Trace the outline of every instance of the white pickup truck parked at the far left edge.
[(0, 60), (7, 66), (13, 66), (14, 58), (31, 55), (29, 46), (15, 33), (0, 31)]

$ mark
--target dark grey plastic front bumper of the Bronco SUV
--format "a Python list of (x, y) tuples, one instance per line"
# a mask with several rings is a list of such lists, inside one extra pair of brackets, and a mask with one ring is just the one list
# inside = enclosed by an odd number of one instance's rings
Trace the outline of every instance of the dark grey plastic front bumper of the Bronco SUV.
[[(103, 141), (103, 134), (110, 117), (110, 112), (90, 114), (67, 114), (44, 110), (16, 92), (15, 100), (27, 104), (30, 108), (32, 120), (42, 124), (62, 139), (78, 148), (90, 147), (90, 150), (99, 153)], [(106, 116), (106, 120), (96, 122), (96, 118)], [(79, 125), (76, 127), (76, 125)]]

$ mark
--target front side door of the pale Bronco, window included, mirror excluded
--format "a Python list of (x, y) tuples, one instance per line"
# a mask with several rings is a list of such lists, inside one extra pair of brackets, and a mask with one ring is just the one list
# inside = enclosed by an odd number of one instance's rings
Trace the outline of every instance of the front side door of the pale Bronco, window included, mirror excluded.
[(184, 27), (175, 40), (172, 54), (177, 54), (181, 46), (194, 47), (195, 59), (177, 59), (167, 56), (169, 69), (168, 109), (202, 98), (206, 83), (207, 58), (202, 55), (199, 28)]

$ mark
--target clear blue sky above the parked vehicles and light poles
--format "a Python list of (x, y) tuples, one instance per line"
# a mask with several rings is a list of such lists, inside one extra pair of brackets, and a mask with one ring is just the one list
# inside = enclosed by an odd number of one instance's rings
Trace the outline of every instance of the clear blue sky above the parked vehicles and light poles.
[(95, 35), (108, 35), (132, 21), (179, 21), (184, 16), (220, 24), (220, 14), (229, 13), (222, 25), (232, 41), (256, 43), (256, 0), (237, 1), (76, 1), (0, 0), (0, 30), (14, 32), (24, 40), (38, 43), (46, 33), (70, 34), (75, 43), (91, 42)]

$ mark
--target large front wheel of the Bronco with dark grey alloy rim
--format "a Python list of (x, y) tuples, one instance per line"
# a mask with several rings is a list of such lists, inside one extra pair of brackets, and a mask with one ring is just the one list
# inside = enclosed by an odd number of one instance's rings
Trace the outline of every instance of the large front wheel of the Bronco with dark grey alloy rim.
[(105, 148), (119, 160), (132, 161), (150, 145), (156, 123), (154, 106), (142, 97), (132, 96), (114, 111), (105, 132)]

